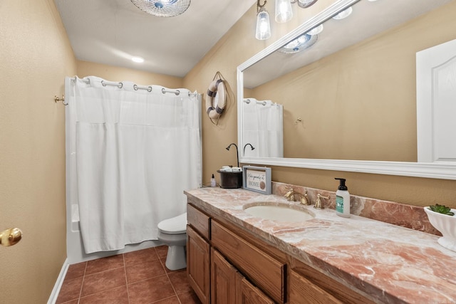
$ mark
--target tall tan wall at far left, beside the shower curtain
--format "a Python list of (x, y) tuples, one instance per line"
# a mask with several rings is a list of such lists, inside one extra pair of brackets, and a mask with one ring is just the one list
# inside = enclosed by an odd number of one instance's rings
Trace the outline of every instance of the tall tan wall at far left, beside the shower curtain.
[(46, 303), (66, 259), (64, 78), (76, 60), (53, 0), (0, 3), (1, 303)]

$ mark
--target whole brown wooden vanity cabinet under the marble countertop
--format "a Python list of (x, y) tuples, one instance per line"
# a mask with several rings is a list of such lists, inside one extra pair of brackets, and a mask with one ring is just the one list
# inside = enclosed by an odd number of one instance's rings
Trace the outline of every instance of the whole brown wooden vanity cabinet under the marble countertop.
[(187, 275), (203, 304), (374, 303), (192, 204), (187, 204), (187, 222)]

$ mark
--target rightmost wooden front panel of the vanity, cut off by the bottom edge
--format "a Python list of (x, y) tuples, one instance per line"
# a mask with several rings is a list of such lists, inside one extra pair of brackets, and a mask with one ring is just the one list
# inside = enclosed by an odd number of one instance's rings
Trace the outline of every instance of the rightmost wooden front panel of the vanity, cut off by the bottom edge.
[(321, 289), (311, 281), (294, 271), (290, 271), (290, 304), (341, 304), (342, 302), (326, 290)]

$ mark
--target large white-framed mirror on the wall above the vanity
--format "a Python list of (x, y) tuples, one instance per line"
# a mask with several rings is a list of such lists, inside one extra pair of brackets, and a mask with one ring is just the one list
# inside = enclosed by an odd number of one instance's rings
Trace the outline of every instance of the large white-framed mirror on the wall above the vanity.
[(239, 65), (240, 162), (456, 179), (418, 162), (416, 125), (415, 54), (456, 38), (432, 15), (451, 2), (336, 1)]

